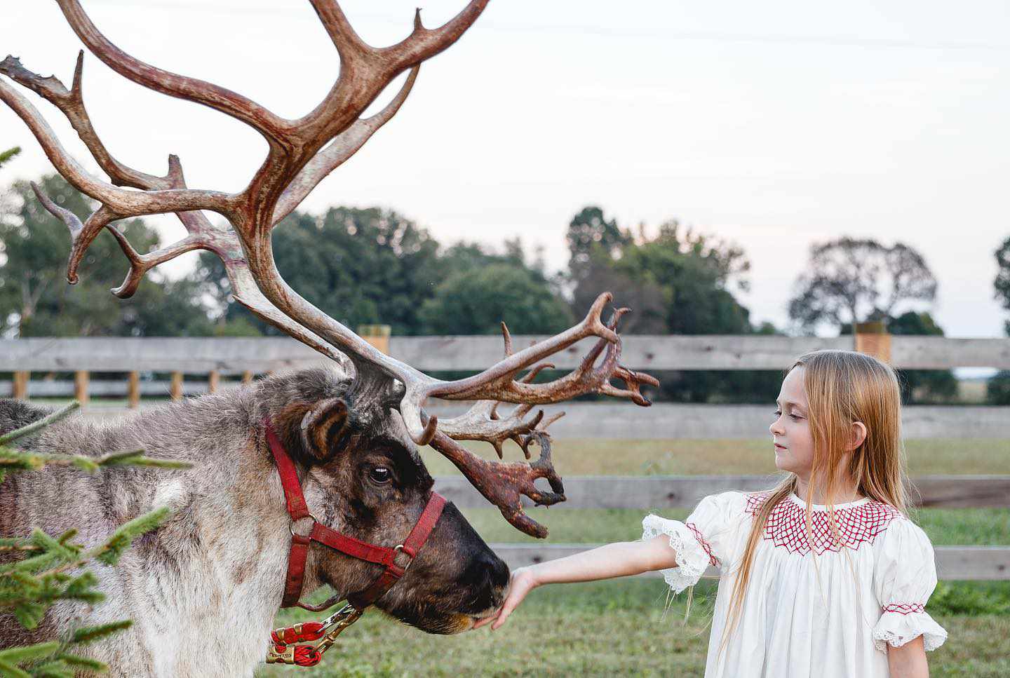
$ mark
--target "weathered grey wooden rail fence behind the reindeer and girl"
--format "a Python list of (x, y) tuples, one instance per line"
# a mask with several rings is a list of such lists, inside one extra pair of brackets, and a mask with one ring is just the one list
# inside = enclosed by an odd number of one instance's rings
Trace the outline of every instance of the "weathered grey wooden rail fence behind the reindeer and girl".
[[(516, 350), (541, 337), (514, 337)], [(574, 367), (589, 342), (573, 346), (552, 362)], [(629, 336), (622, 362), (633, 369), (781, 370), (799, 354), (825, 348), (852, 348), (851, 337)], [(427, 370), (479, 370), (501, 356), (498, 337), (392, 337), (389, 353)], [(890, 338), (891, 363), (909, 369), (996, 367), (1010, 369), (1010, 339), (946, 337)], [(31, 381), (30, 372), (74, 372), (74, 391), (87, 401), (91, 392), (126, 393), (131, 404), (141, 393), (180, 398), (184, 392), (213, 391), (222, 375), (241, 375), (326, 364), (311, 349), (289, 338), (221, 339), (21, 339), (0, 341), (0, 371), (13, 372), (10, 391), (42, 394), (50, 385)], [(126, 372), (121, 391), (92, 380), (92, 372)], [(148, 381), (141, 372), (170, 373), (167, 381)], [(202, 375), (184, 379), (185, 375)], [(99, 385), (102, 383), (102, 385)], [(2, 387), (2, 386), (0, 386)], [(69, 385), (63, 388), (70, 393)], [(55, 393), (54, 393), (55, 394)], [(460, 406), (435, 406), (453, 411)], [(651, 409), (627, 404), (569, 404), (569, 416), (551, 427), (559, 437), (611, 438), (753, 438), (766, 430), (765, 406), (691, 406), (661, 404)], [(439, 411), (439, 414), (441, 412)], [(716, 425), (713, 425), (713, 422)], [(903, 422), (906, 437), (1010, 438), (1007, 407), (910, 407)], [(567, 478), (569, 500), (561, 508), (690, 507), (698, 498), (725, 489), (758, 489), (763, 476), (652, 476)], [(915, 479), (919, 501), (937, 507), (1010, 507), (1010, 476), (923, 476)], [(462, 477), (436, 479), (438, 491), (461, 506), (487, 506)], [(513, 567), (591, 548), (591, 544), (494, 544)], [(937, 568), (947, 579), (1010, 579), (1010, 548), (948, 546), (936, 548)]]

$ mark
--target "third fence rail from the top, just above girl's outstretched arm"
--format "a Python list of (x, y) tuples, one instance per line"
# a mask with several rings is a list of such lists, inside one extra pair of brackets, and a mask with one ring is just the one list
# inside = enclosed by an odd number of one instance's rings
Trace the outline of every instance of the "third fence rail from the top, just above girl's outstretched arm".
[[(693, 508), (709, 494), (768, 489), (769, 475), (579, 475), (565, 478), (564, 508)], [(912, 478), (909, 498), (916, 505), (942, 508), (1010, 507), (1010, 475), (920, 475)], [(464, 508), (488, 506), (462, 476), (435, 478), (435, 491)], [(526, 505), (531, 505), (525, 497)]]

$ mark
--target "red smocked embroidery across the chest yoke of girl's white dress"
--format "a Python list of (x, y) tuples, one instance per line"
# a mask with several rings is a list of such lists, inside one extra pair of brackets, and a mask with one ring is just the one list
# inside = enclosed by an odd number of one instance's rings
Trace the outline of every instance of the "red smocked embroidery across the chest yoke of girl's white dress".
[[(746, 513), (755, 516), (768, 499), (768, 492), (751, 494), (747, 497)], [(838, 552), (841, 547), (860, 548), (860, 544), (870, 542), (901, 513), (882, 501), (867, 501), (857, 506), (836, 508), (834, 511), (834, 527), (837, 538), (831, 526), (827, 511), (813, 511), (810, 514), (810, 528), (813, 533), (813, 549), (807, 536), (806, 510), (786, 497), (772, 510), (765, 524), (765, 539), (771, 540), (776, 546), (785, 547), (790, 553), (807, 555), (811, 550), (821, 555), (825, 551)], [(839, 540), (840, 539), (840, 543)]]

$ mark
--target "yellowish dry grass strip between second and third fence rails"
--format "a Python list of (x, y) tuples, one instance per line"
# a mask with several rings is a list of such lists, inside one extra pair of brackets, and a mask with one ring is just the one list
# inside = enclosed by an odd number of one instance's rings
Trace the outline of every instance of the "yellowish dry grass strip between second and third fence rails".
[[(494, 456), (487, 443), (465, 444), (481, 456)], [(1010, 440), (908, 440), (905, 449), (912, 475), (1010, 474)], [(459, 472), (451, 462), (430, 448), (424, 448), (421, 455), (432, 475)], [(507, 459), (518, 459), (522, 452), (509, 444), (505, 455)], [(769, 440), (559, 439), (552, 443), (551, 456), (563, 476), (776, 472)]]

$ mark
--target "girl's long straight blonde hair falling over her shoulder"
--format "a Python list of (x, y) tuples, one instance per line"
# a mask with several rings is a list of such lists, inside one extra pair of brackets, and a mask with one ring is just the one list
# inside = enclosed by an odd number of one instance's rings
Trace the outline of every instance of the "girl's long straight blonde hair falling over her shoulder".
[[(838, 541), (840, 536), (834, 522), (832, 497), (849, 479), (861, 495), (907, 513), (907, 476), (901, 444), (901, 389), (894, 370), (874, 357), (851, 351), (806, 353), (797, 358), (789, 371), (797, 367), (804, 368), (803, 385), (809, 403), (807, 417), (814, 443), (806, 496), (807, 539), (812, 544), (810, 504), (815, 487), (824, 490), (832, 532)], [(849, 452), (846, 447), (851, 440), (854, 422), (862, 422), (867, 427), (867, 438)], [(847, 463), (842, 464), (845, 455), (850, 456)], [(796, 475), (788, 473), (782, 482), (772, 488), (768, 499), (754, 516), (733, 584), (723, 646), (739, 623), (754, 551), (763, 538), (769, 516), (780, 501), (796, 491)]]

